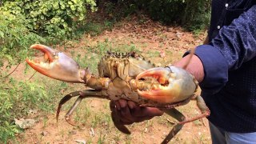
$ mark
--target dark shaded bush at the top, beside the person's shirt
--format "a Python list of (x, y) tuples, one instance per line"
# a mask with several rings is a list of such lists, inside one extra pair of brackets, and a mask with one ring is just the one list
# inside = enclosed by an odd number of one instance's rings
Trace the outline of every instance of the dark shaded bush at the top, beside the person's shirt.
[(210, 0), (130, 0), (130, 8), (144, 10), (154, 20), (205, 30), (210, 24)]

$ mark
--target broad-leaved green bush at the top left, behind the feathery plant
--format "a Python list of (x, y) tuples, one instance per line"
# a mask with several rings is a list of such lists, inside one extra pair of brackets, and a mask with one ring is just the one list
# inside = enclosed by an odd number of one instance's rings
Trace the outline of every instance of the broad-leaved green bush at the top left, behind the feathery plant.
[(86, 7), (95, 10), (94, 0), (16, 0), (5, 2), (1, 10), (23, 14), (30, 30), (50, 37), (70, 36), (86, 17)]

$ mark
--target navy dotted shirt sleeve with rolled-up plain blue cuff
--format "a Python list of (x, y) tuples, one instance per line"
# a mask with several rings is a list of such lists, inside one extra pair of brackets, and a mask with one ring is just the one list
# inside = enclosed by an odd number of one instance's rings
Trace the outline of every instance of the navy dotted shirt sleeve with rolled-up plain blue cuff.
[(256, 55), (256, 6), (234, 19), (229, 26), (223, 26), (209, 45), (198, 46), (195, 54), (204, 66), (202, 90), (217, 93), (225, 86), (229, 70), (237, 70)]

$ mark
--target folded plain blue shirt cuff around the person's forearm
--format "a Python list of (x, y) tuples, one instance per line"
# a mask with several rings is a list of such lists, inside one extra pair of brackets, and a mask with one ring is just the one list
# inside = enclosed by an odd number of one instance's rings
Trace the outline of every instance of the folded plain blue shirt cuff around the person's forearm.
[[(186, 52), (184, 56), (189, 54)], [(199, 83), (204, 94), (216, 94), (228, 80), (228, 65), (222, 53), (210, 45), (198, 46), (195, 55), (200, 58), (205, 77)]]

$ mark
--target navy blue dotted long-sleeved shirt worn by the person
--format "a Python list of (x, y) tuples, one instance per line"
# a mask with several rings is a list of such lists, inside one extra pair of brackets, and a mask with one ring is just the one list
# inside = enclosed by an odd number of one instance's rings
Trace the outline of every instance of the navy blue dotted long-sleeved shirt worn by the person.
[(208, 119), (226, 131), (256, 132), (256, 2), (213, 0), (208, 35), (195, 51)]

